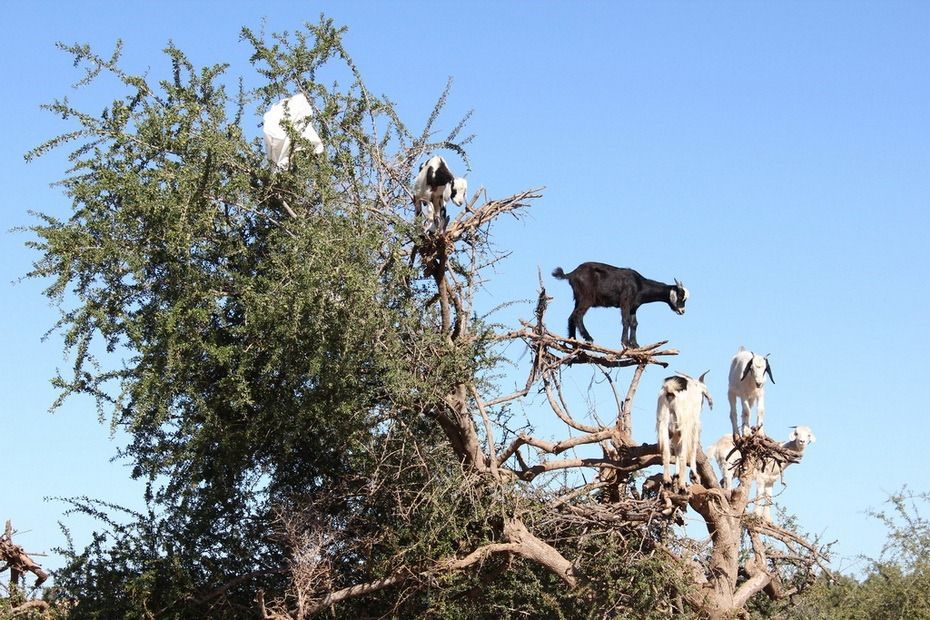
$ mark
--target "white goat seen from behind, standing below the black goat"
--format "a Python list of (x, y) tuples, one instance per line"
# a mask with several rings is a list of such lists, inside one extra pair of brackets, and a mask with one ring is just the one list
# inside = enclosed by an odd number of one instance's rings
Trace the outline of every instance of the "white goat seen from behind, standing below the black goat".
[(662, 480), (669, 484), (669, 463), (672, 454), (678, 464), (678, 487), (688, 485), (685, 463), (697, 472), (697, 453), (701, 449), (701, 406), (704, 399), (710, 409), (714, 401), (704, 385), (705, 372), (697, 380), (686, 375), (668, 377), (659, 390), (656, 408), (656, 434), (662, 453)]

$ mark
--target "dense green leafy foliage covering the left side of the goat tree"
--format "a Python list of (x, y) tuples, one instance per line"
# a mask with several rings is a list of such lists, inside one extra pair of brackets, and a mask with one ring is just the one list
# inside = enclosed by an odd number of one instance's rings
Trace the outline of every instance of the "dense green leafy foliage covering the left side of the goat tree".
[[(413, 145), (414, 155), (436, 146), (429, 128), (410, 135), (368, 93), (340, 34), (325, 19), (272, 44), (244, 30), (265, 83), (234, 94), (225, 65), (197, 69), (172, 45), (158, 82), (120, 66), (121, 44), (110, 57), (62, 46), (84, 68), (81, 86), (110, 76), (126, 92), (99, 115), (66, 99), (47, 106), (78, 128), (27, 157), (72, 148), (59, 183), (72, 213), (37, 214), (29, 275), (49, 282), (73, 359), (54, 381), (56, 405), (93, 397), (129, 433), (120, 456), (148, 484), (142, 512), (70, 500), (102, 525), (86, 549), (65, 550), (56, 575), (79, 601), (75, 617), (254, 611), (257, 588), (287, 587), (282, 507), (318, 506), (315, 527), (342, 537), (337, 584), (390, 571), (398, 546), (414, 559), (447, 551), (455, 527), (444, 524), (475, 509), (437, 514), (427, 502), (398, 514), (408, 494), (461, 475), (440, 451), (417, 449), (438, 440), (420, 414), (488, 358), (480, 340), (449, 345), (401, 258), (408, 175), (383, 178), (381, 162), (409, 172)], [(324, 66), (352, 85), (317, 82)], [(242, 127), (297, 90), (314, 101), (326, 152), (295, 151), (287, 170), (271, 169)], [(373, 492), (392, 468), (406, 475), (413, 454), (428, 475)], [(435, 544), (418, 542), (424, 523)], [(360, 569), (365, 545), (373, 556)]]

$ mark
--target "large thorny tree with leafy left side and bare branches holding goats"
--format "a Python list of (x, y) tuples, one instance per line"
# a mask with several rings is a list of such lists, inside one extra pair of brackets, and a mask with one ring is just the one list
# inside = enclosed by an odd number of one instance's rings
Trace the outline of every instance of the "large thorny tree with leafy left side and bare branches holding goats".
[[(443, 93), (411, 130), (340, 35), (325, 19), (243, 30), (260, 81), (248, 88), (173, 46), (158, 81), (124, 70), (119, 46), (63, 46), (82, 85), (105, 76), (121, 92), (100, 113), (48, 105), (75, 128), (29, 157), (71, 149), (72, 212), (38, 215), (30, 275), (49, 281), (74, 360), (59, 400), (95, 399), (147, 490), (142, 511), (70, 500), (101, 528), (69, 542), (55, 597), (95, 618), (725, 618), (808, 582), (816, 545), (745, 513), (753, 468), (793, 455), (740, 442), (732, 493), (703, 457), (680, 494), (648, 475), (660, 457), (632, 440), (633, 399), (674, 350), (550, 332), (542, 283), (522, 326), (482, 318), (494, 223), (540, 190), (481, 189), (423, 235), (415, 166), (465, 158), (467, 118), (434, 139)], [(278, 169), (251, 130), (295, 92), (325, 150), (292, 131)], [(520, 342), (525, 382), (502, 390)], [(603, 377), (616, 408), (575, 414), (566, 373)], [(566, 438), (514, 427), (520, 408)], [(707, 544), (676, 528), (685, 510)]]

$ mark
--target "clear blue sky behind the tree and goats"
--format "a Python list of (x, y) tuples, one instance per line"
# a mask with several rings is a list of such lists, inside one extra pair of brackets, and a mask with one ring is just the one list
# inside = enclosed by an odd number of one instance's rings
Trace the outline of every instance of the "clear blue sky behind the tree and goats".
[[(670, 339), (682, 352), (672, 369), (711, 369), (717, 408), (704, 414), (703, 443), (729, 429), (726, 374), (738, 346), (771, 353), (767, 430), (786, 437), (806, 424), (818, 438), (778, 502), (809, 532), (839, 540), (838, 568), (879, 552), (883, 531), (864, 511), (905, 483), (930, 490), (916, 469), (930, 413), (930, 4), (10, 4), (0, 55), (3, 229), (31, 223), (30, 209), (69, 209), (49, 187), (64, 153), (23, 160), (66, 128), (39, 104), (67, 94), (99, 111), (112, 95), (72, 91), (79, 75), (56, 41), (108, 52), (123, 38), (127, 64), (160, 77), (170, 39), (195, 64), (230, 62), (235, 78), (252, 76), (241, 26), (266, 17), (269, 31), (295, 30), (321, 11), (349, 26), (347, 47), (370, 87), (413, 127), (454, 77), (440, 128), (475, 110), (472, 187), (502, 197), (546, 186), (528, 218), (497, 229), (513, 255), (485, 309), (533, 297), (539, 268), (556, 297), (550, 326), (563, 330), (570, 290), (548, 274), (586, 260), (682, 279), (688, 313), (644, 307), (639, 340)], [(91, 402), (47, 413), (48, 380), (69, 361), (57, 336), (40, 340), (56, 319), (41, 284), (10, 284), (36, 258), (27, 238), (0, 237), (0, 520), (28, 530), (19, 538), (27, 550), (47, 551), (62, 543), (64, 506), (44, 497), (137, 505), (140, 489), (125, 464), (110, 462), (121, 440)], [(531, 311), (504, 318), (517, 315)], [(618, 315), (589, 313), (600, 343), (619, 341)], [(640, 390), (640, 441), (654, 441), (665, 374), (651, 371)], [(90, 524), (66, 523), (86, 541)]]

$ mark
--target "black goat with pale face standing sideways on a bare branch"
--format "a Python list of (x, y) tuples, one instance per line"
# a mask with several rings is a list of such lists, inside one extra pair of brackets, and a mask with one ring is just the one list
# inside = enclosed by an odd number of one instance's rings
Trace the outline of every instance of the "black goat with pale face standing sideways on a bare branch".
[(644, 278), (632, 269), (614, 267), (605, 263), (582, 263), (570, 273), (556, 267), (553, 277), (568, 280), (575, 297), (575, 309), (568, 316), (568, 337), (575, 337), (575, 327), (581, 336), (591, 342), (591, 334), (584, 326), (584, 315), (588, 308), (620, 308), (623, 333), (620, 342), (624, 347), (638, 348), (636, 342), (636, 310), (643, 304), (664, 301), (674, 312), (685, 313), (688, 289), (675, 280), (665, 284)]

